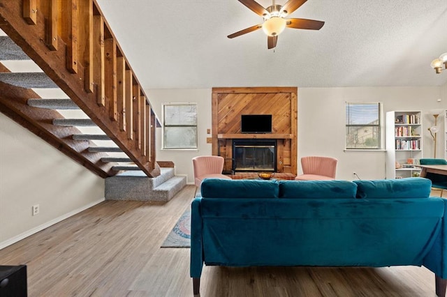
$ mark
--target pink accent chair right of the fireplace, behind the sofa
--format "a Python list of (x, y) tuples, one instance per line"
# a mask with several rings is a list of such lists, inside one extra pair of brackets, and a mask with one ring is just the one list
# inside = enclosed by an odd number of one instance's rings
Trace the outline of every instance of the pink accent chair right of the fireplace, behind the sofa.
[(330, 157), (301, 158), (302, 174), (295, 177), (299, 181), (335, 179), (338, 160)]

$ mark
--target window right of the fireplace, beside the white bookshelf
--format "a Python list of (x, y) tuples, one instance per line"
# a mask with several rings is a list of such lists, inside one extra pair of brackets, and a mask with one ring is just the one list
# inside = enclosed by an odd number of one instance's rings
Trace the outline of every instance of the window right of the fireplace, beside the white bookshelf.
[(346, 102), (346, 149), (381, 149), (381, 103)]

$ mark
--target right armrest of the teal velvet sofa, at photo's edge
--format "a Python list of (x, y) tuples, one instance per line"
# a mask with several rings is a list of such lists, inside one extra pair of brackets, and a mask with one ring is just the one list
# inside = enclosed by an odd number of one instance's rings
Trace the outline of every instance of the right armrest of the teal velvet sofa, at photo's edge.
[(444, 201), (444, 215), (441, 218), (441, 228), (434, 240), (432, 248), (424, 258), (423, 265), (434, 272), (437, 277), (447, 279), (447, 199)]

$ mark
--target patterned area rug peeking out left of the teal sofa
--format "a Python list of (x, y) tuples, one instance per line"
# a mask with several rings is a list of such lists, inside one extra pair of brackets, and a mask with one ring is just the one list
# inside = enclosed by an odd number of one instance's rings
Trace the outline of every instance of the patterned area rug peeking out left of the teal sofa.
[(161, 248), (191, 248), (191, 208), (187, 208)]

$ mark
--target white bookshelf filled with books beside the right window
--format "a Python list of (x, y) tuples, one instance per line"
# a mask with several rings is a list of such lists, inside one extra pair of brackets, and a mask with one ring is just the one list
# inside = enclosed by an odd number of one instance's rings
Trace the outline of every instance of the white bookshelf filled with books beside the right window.
[(422, 158), (422, 112), (387, 112), (386, 178), (418, 176), (414, 165)]

